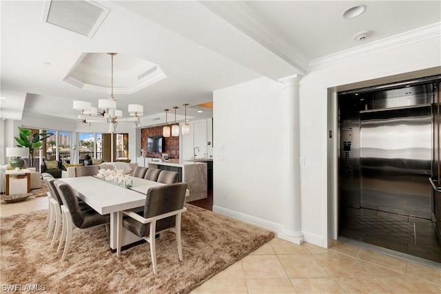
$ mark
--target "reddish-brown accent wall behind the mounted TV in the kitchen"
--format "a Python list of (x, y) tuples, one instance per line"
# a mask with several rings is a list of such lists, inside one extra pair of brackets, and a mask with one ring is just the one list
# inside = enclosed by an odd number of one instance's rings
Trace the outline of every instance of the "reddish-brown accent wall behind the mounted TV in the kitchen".
[[(172, 129), (172, 125), (168, 125)], [(144, 150), (147, 157), (161, 157), (160, 153), (147, 153), (147, 137), (163, 136), (163, 126), (146, 127), (141, 129), (141, 149)], [(164, 138), (164, 152), (170, 159), (179, 159), (179, 137)]]

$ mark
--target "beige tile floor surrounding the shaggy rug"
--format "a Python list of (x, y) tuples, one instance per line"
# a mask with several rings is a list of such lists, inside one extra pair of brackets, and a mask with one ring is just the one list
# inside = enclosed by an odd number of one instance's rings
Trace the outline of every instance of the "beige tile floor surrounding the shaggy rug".
[[(45, 197), (0, 204), (0, 216), (47, 209)], [(441, 271), (351, 244), (329, 249), (274, 238), (197, 293), (441, 293)]]

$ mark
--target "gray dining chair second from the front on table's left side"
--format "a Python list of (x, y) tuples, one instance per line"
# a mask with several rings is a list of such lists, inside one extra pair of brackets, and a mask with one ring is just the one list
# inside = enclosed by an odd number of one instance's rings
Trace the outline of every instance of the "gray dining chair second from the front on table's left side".
[[(60, 194), (58, 193), (57, 188), (54, 185), (54, 181), (57, 179), (53, 177), (52, 178), (45, 177), (43, 178), (43, 180), (45, 182), (46, 187), (48, 187), (48, 199), (49, 199), (49, 207), (48, 207), (49, 221), (48, 221), (48, 230), (46, 231), (46, 239), (50, 237), (50, 233), (52, 232), (52, 229), (54, 229), (55, 226), (52, 242), (50, 243), (50, 246), (54, 246), (61, 227), (62, 202), (61, 202)], [(88, 204), (85, 204), (85, 202), (79, 200), (79, 209), (87, 210), (87, 209), (91, 209), (91, 207)]]

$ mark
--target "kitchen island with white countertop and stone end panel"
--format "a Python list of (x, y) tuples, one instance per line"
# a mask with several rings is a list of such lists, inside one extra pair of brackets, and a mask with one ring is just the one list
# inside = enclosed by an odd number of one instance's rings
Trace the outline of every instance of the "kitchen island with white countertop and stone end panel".
[(207, 162), (169, 159), (162, 161), (159, 158), (136, 158), (139, 166), (167, 171), (176, 171), (179, 174), (179, 182), (187, 182), (190, 191), (188, 200), (200, 200), (207, 198)]

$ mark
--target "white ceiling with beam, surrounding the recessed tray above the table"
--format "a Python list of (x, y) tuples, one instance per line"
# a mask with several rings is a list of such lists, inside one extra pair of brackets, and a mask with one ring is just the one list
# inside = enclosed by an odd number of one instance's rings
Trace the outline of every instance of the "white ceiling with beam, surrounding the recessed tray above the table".
[[(1, 118), (32, 113), (76, 119), (72, 101), (96, 106), (108, 98), (63, 81), (88, 52), (119, 52), (161, 67), (163, 80), (115, 95), (125, 116), (128, 104), (144, 105), (148, 124), (164, 108), (176, 105), (183, 112), (183, 103), (190, 105), (188, 116), (211, 116), (191, 106), (212, 101), (214, 90), (260, 76), (277, 81), (306, 74), (323, 56), (441, 21), (441, 1), (96, 2), (110, 13), (89, 38), (42, 21), (45, 1), (0, 1), (0, 96), (6, 97), (0, 100)], [(367, 8), (360, 17), (342, 17), (360, 3)], [(353, 39), (365, 30), (373, 32), (371, 38)], [(94, 66), (108, 68), (110, 59), (103, 62)]]

